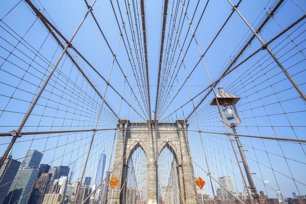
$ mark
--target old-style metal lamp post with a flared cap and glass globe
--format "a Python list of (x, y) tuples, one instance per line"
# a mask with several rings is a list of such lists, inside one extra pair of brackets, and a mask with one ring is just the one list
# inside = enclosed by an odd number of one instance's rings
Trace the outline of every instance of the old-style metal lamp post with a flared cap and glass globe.
[[(234, 134), (235, 134), (235, 139), (238, 145), (238, 149), (240, 152), (240, 156), (242, 159), (242, 163), (244, 166), (244, 170), (247, 176), (247, 180), (248, 183), (250, 185), (250, 189), (252, 192), (252, 197), (254, 198), (254, 201), (256, 204), (260, 204), (260, 199), (259, 199), (259, 194), (257, 193), (250, 169), (248, 167), (247, 161), (246, 161), (246, 157), (244, 155), (244, 151), (242, 149), (242, 145), (240, 143), (239, 137), (237, 136), (237, 131), (236, 131), (236, 126), (238, 126), (238, 124), (241, 122), (241, 119), (239, 117), (238, 111), (236, 109), (236, 104), (237, 102), (240, 100), (240, 97), (234, 96), (231, 93), (224, 93), (223, 87), (219, 87), (218, 88), (219, 93), (216, 94), (216, 98), (214, 98), (212, 100), (211, 106), (220, 106), (220, 108), (222, 109), (222, 107), (224, 107), (223, 112), (224, 112), (224, 116), (227, 120), (233, 120), (235, 118), (235, 115), (237, 117), (236, 122), (227, 122), (225, 119), (223, 119), (223, 115), (220, 112), (220, 116), (222, 118), (222, 121), (227, 125), (230, 126), (231, 129), (233, 130)], [(221, 110), (219, 109), (219, 110)], [(233, 111), (234, 109), (234, 111)], [(234, 113), (235, 112), (235, 113)]]

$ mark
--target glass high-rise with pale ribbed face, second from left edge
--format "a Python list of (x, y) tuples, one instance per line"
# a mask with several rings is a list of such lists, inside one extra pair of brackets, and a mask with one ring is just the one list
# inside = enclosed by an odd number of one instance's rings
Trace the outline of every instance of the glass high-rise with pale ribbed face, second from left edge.
[(34, 167), (20, 166), (4, 203), (27, 204), (38, 173)]

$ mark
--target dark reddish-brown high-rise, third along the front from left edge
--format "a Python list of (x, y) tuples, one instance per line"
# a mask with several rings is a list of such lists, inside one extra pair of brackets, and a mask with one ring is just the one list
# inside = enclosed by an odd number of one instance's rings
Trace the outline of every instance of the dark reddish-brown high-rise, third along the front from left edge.
[(29, 204), (42, 203), (43, 197), (48, 193), (51, 184), (50, 173), (42, 173), (41, 176), (36, 180), (34, 190), (32, 191)]

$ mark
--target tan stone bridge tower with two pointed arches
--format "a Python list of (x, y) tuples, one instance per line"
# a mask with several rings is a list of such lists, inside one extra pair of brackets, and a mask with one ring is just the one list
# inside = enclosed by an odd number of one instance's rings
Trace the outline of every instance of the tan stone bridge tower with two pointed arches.
[[(119, 184), (114, 188), (113, 203), (125, 203), (123, 200), (125, 192), (123, 190), (120, 192), (120, 189), (126, 186), (127, 182), (124, 181), (129, 161), (138, 147), (142, 148), (148, 161), (146, 203), (158, 203), (157, 161), (164, 148), (168, 148), (176, 160), (180, 203), (197, 203), (195, 177), (192, 161), (189, 159), (188, 124), (186, 125), (183, 119), (171, 123), (148, 124), (149, 122), (133, 123), (127, 119), (122, 119), (117, 124), (119, 130), (113, 168), (117, 165), (118, 167), (112, 172), (111, 177), (115, 176)], [(111, 196), (112, 193), (109, 192), (107, 203), (111, 203)]]

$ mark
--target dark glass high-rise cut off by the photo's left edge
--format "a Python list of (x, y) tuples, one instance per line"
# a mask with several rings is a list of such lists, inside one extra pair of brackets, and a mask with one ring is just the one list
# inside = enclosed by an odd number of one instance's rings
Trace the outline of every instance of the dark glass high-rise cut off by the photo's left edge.
[(21, 162), (12, 159), (12, 154), (10, 152), (9, 157), (4, 161), (4, 164), (0, 168), (0, 203), (3, 203), (11, 184), (15, 178)]

